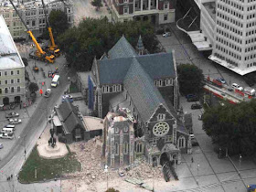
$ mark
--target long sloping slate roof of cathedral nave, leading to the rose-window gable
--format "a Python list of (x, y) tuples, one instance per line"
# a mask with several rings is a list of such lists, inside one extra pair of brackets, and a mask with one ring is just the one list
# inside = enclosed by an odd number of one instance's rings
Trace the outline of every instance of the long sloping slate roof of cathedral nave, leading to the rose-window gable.
[(144, 71), (136, 58), (132, 60), (132, 65), (123, 81), (123, 86), (132, 98), (143, 122), (149, 120), (160, 103), (163, 103), (165, 108), (168, 109), (165, 100), (155, 87), (154, 80)]

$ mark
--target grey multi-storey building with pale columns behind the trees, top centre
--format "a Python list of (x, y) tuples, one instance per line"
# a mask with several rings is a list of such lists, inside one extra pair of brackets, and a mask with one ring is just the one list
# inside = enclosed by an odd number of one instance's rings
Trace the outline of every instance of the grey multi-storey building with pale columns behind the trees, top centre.
[(149, 20), (152, 23), (168, 24), (175, 21), (176, 0), (109, 0), (112, 9), (112, 20)]

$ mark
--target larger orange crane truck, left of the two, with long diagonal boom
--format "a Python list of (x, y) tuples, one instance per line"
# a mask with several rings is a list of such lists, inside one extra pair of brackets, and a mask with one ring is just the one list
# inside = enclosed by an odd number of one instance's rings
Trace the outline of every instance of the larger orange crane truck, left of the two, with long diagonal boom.
[(54, 55), (48, 55), (45, 51), (43, 51), (43, 49), (40, 47), (40, 45), (37, 43), (37, 39), (36, 37), (34, 37), (33, 33), (31, 30), (29, 30), (29, 28), (27, 27), (27, 24), (25, 23), (25, 21), (23, 20), (22, 16), (20, 16), (20, 14), (18, 13), (16, 6), (14, 5), (13, 1), (10, 0), (10, 3), (13, 5), (14, 9), (16, 10), (16, 14), (19, 16), (21, 22), (23, 23), (23, 25), (26, 27), (27, 29), (27, 33), (29, 34), (29, 36), (32, 38), (32, 41), (34, 42), (34, 44), (36, 45), (37, 50), (33, 51), (32, 53), (29, 53), (29, 57), (31, 59), (37, 59), (37, 60), (43, 60), (49, 63), (54, 63), (55, 60), (55, 56)]

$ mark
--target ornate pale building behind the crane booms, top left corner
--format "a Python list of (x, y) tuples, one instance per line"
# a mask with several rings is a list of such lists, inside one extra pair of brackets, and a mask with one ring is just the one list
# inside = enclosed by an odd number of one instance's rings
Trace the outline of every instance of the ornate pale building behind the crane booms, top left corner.
[[(68, 16), (70, 26), (73, 26), (73, 5), (65, 1), (65, 3), (58, 1), (45, 1), (47, 8), (47, 15), (49, 16), (52, 10), (60, 10)], [(40, 0), (29, 1), (24, 4), (15, 4), (19, 13), (27, 23), (27, 27), (31, 29), (35, 37), (41, 36), (46, 29), (46, 18), (44, 9)], [(14, 39), (27, 38), (26, 28), (23, 26), (20, 18), (17, 16), (15, 9), (7, 2), (0, 6), (0, 15), (3, 15), (7, 27)]]

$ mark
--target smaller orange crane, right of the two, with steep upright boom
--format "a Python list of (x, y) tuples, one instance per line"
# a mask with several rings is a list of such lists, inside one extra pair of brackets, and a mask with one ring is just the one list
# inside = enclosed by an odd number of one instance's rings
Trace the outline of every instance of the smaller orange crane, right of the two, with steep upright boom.
[(59, 50), (58, 46), (55, 44), (55, 41), (54, 41), (54, 38), (53, 38), (53, 35), (52, 35), (52, 30), (51, 30), (51, 27), (49, 26), (48, 16), (47, 16), (47, 9), (46, 9), (46, 5), (44, 3), (44, 0), (42, 0), (42, 5), (43, 5), (45, 16), (46, 16), (48, 34), (49, 34), (49, 38), (50, 38), (50, 46), (48, 46), (46, 48), (46, 51), (48, 51), (51, 54), (54, 54), (56, 57), (59, 57), (60, 50)]

